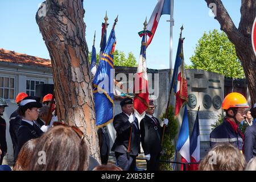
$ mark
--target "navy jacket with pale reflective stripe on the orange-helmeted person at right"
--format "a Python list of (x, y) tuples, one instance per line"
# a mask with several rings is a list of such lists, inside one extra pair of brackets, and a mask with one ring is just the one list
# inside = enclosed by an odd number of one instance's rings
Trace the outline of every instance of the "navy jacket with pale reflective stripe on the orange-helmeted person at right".
[(217, 126), (210, 133), (210, 148), (213, 148), (216, 144), (230, 143), (242, 151), (243, 137), (238, 131), (234, 131), (233, 127), (228, 121), (224, 119), (224, 122)]

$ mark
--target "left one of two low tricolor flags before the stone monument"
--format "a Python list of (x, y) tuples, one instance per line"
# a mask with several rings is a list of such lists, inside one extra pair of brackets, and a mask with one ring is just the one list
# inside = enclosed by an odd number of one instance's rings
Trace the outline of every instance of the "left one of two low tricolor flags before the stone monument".
[[(183, 110), (183, 109), (182, 109)], [(176, 151), (181, 155), (181, 162), (190, 163), (190, 142), (187, 105), (184, 106), (183, 119), (180, 127), (179, 137), (177, 139)], [(181, 165), (183, 171), (183, 165)]]

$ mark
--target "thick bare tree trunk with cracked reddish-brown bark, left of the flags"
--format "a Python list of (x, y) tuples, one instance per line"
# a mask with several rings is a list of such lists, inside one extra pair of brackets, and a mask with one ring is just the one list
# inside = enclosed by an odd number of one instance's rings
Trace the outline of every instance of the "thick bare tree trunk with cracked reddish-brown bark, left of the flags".
[(52, 61), (58, 118), (85, 133), (100, 161), (82, 0), (47, 0), (36, 14)]

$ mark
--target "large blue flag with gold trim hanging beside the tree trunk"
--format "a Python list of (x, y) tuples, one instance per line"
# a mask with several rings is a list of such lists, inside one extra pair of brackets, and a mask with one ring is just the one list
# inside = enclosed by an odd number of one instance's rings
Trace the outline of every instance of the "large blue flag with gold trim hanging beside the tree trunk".
[(115, 31), (110, 32), (108, 43), (102, 53), (101, 61), (98, 64), (96, 75), (93, 79), (93, 94), (96, 110), (96, 126), (103, 127), (113, 121), (114, 93), (113, 93), (113, 72), (114, 69), (114, 48)]

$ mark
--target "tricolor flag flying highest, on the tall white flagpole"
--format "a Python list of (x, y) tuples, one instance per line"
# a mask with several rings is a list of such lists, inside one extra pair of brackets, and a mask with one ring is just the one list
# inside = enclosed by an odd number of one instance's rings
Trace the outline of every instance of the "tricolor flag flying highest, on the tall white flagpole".
[(155, 6), (155, 9), (150, 16), (150, 20), (147, 24), (147, 30), (152, 32), (152, 35), (147, 40), (147, 46), (151, 43), (153, 36), (155, 35), (156, 28), (158, 27), (158, 22), (162, 15), (170, 15), (171, 14), (171, 7), (170, 7), (170, 0), (158, 0), (158, 3)]

